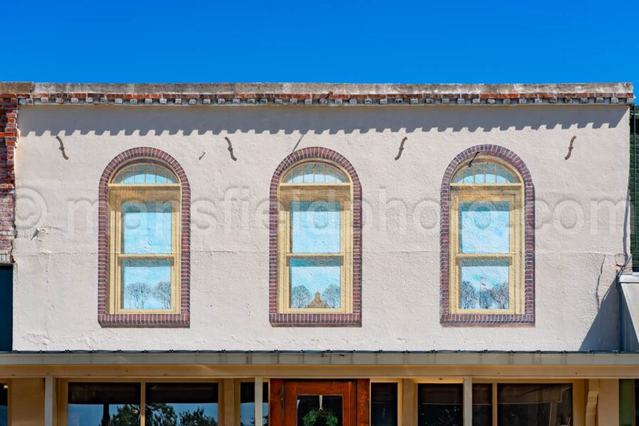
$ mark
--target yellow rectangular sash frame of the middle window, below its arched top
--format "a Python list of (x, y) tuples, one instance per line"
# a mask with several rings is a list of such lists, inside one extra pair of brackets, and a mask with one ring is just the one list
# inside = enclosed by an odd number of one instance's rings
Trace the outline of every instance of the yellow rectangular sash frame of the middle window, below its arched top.
[[(297, 165), (296, 165), (297, 166)], [(342, 168), (337, 168), (348, 176)], [(339, 253), (292, 253), (290, 202), (339, 202)], [(290, 307), (290, 259), (342, 260), (339, 308)], [(353, 185), (346, 183), (280, 183), (278, 187), (278, 312), (283, 314), (350, 314), (353, 312)]]

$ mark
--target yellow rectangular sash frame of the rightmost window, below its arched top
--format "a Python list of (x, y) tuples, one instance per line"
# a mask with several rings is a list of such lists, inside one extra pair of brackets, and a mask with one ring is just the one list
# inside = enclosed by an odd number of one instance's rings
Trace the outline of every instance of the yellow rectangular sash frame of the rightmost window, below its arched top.
[[(523, 314), (525, 307), (524, 285), (524, 215), (523, 185), (505, 184), (451, 184), (450, 233), (449, 233), (449, 312), (451, 314)], [(508, 202), (509, 253), (461, 253), (459, 204), (462, 202)], [(508, 309), (461, 309), (461, 262), (469, 259), (508, 260)]]

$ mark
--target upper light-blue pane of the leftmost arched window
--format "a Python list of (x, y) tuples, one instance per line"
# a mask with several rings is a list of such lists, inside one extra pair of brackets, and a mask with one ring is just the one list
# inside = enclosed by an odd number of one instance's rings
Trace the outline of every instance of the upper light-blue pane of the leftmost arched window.
[(121, 208), (123, 253), (171, 253), (170, 202), (123, 202)]

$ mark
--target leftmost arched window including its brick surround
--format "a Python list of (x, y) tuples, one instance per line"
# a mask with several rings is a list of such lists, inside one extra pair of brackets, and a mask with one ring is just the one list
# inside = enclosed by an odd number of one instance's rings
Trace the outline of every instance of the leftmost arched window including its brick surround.
[(103, 175), (106, 203), (100, 204), (100, 234), (102, 239), (104, 232), (107, 240), (107, 256), (102, 242), (99, 253), (107, 263), (106, 276), (102, 269), (100, 273), (100, 323), (185, 327), (189, 322), (185, 175), (177, 161), (152, 148), (126, 151), (111, 163)]

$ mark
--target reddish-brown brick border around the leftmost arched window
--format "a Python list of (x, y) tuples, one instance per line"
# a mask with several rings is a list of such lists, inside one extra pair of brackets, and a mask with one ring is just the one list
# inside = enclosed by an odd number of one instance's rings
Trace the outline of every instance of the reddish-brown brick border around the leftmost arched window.
[[(107, 277), (109, 249), (109, 212), (107, 191), (109, 181), (125, 165), (139, 160), (150, 160), (161, 164), (175, 173), (182, 185), (182, 256), (180, 258), (180, 313), (179, 314), (109, 314)], [(98, 323), (102, 327), (189, 327), (190, 326), (190, 217), (191, 190), (185, 171), (178, 160), (156, 148), (132, 148), (116, 155), (104, 168), (99, 182), (98, 202)]]

